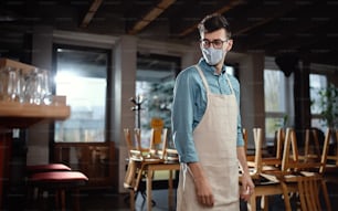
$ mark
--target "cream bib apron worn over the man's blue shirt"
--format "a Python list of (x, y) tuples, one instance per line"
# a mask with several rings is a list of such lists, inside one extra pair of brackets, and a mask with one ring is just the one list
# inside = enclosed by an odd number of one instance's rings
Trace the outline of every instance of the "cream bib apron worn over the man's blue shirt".
[(205, 113), (193, 131), (199, 160), (211, 184), (214, 205), (202, 207), (197, 199), (194, 182), (187, 163), (181, 163), (177, 190), (177, 211), (239, 211), (239, 163), (236, 156), (237, 103), (226, 76), (231, 95), (212, 94), (201, 68), (207, 91)]

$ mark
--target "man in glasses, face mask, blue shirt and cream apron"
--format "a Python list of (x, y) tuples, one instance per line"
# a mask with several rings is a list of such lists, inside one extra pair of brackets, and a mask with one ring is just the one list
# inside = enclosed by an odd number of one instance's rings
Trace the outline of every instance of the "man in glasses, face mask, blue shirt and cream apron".
[(177, 210), (240, 210), (240, 197), (247, 200), (254, 183), (244, 151), (240, 84), (224, 66), (233, 40), (221, 14), (207, 15), (199, 32), (203, 57), (178, 75), (173, 91), (172, 133), (181, 162)]

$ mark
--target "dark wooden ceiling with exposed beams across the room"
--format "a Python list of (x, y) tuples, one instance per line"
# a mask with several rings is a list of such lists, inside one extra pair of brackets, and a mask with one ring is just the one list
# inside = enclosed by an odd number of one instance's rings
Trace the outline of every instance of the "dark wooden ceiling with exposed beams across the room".
[(234, 52), (293, 55), (338, 65), (337, 0), (2, 0), (0, 53), (27, 48), (33, 25), (99, 34), (198, 42), (197, 24), (221, 12)]

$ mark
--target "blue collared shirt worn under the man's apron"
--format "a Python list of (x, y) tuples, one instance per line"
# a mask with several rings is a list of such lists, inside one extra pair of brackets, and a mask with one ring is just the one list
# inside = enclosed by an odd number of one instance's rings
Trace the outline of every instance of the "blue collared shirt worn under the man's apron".
[[(218, 75), (215, 74), (215, 67), (207, 64), (204, 59), (199, 61), (199, 65), (204, 73), (211, 93), (232, 94), (225, 76), (228, 74), (225, 66), (222, 67), (222, 73)], [(228, 74), (228, 77), (233, 87), (237, 105), (240, 105), (240, 83), (232, 75)], [(199, 161), (192, 133), (204, 115), (205, 108), (205, 87), (197, 68), (190, 66), (178, 74), (173, 88), (172, 138), (181, 162)], [(240, 114), (237, 116), (237, 146), (244, 146)]]

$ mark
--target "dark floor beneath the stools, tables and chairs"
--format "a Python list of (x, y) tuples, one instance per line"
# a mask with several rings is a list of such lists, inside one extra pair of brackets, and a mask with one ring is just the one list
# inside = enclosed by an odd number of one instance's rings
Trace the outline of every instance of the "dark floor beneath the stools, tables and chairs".
[[(337, 184), (328, 184), (329, 196), (331, 200), (332, 210), (336, 210), (338, 207), (338, 186)], [(154, 199), (154, 211), (167, 211), (168, 208), (168, 190), (160, 189), (155, 190), (152, 192)], [(138, 193), (136, 199), (136, 211), (146, 211), (146, 196)], [(19, 200), (17, 200), (19, 199)], [(67, 211), (74, 210), (73, 204), (70, 203), (72, 200), (72, 196), (67, 196)], [(129, 194), (128, 193), (115, 193), (112, 190), (102, 189), (102, 190), (83, 190), (80, 193), (81, 199), (81, 211), (128, 211), (129, 209)], [(270, 197), (270, 211), (284, 211), (284, 201), (282, 196), (273, 196)], [(258, 204), (260, 201), (257, 201)], [(20, 201), (18, 196), (12, 196), (10, 199), (4, 201), (6, 209), (1, 211), (40, 211), (40, 210), (57, 210), (54, 207), (53, 199), (45, 200), (40, 202), (39, 209), (28, 208), (24, 204), (24, 201)], [(9, 204), (10, 203), (10, 204)], [(295, 204), (295, 203), (292, 203)], [(24, 207), (24, 208), (22, 208)], [(246, 211), (245, 202), (241, 203), (241, 211)]]

